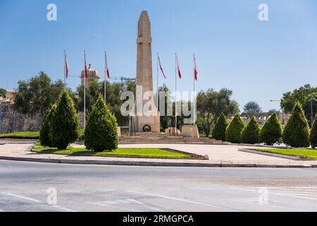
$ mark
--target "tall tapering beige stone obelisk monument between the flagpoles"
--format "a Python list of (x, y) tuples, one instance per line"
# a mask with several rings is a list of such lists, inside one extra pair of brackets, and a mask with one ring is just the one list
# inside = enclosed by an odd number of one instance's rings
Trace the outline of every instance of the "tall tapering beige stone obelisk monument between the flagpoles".
[[(137, 114), (135, 116), (137, 132), (160, 131), (160, 115), (154, 105), (151, 42), (149, 16), (147, 11), (142, 11), (137, 26)], [(151, 107), (147, 107), (149, 105)]]

